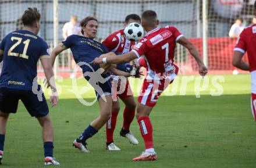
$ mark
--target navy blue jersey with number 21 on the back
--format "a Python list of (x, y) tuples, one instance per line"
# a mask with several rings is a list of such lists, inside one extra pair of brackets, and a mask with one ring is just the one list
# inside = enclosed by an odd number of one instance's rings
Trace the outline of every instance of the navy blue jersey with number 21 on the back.
[(0, 87), (31, 90), (37, 76), (37, 62), (49, 58), (47, 43), (27, 30), (17, 30), (6, 35), (0, 44), (3, 67)]

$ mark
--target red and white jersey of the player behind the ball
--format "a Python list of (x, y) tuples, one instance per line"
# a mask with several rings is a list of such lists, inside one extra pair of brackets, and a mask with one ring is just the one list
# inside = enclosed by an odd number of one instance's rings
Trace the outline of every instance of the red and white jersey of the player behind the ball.
[(102, 44), (105, 45), (109, 51), (115, 52), (116, 55), (121, 55), (131, 51), (136, 42), (127, 40), (122, 29), (109, 35)]

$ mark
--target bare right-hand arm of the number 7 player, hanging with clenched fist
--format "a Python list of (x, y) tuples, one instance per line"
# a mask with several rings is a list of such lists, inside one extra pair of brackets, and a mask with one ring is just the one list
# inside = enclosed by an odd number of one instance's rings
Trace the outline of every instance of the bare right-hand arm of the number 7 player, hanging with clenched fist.
[(200, 57), (199, 52), (197, 51), (197, 49), (195, 48), (195, 46), (189, 41), (187, 40), (185, 37), (181, 37), (178, 41), (179, 44), (183, 45), (184, 47), (186, 47), (189, 52), (191, 53), (191, 55), (194, 57), (194, 59), (196, 60), (196, 62), (198, 63), (199, 66), (199, 74), (201, 76), (205, 76), (208, 73), (208, 69), (207, 67), (204, 65), (204, 62), (202, 62), (202, 59)]

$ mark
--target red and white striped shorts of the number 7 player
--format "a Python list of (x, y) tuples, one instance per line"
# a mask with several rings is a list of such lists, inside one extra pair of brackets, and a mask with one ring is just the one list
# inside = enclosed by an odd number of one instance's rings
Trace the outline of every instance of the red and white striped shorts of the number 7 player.
[[(148, 80), (147, 77), (143, 82), (143, 87), (141, 88), (140, 95), (138, 96), (138, 102), (145, 106), (150, 106), (151, 108), (157, 104), (158, 97), (161, 93), (171, 84), (179, 72), (179, 67), (175, 66), (175, 72), (163, 74), (161, 80)], [(172, 80), (169, 77), (172, 76)]]

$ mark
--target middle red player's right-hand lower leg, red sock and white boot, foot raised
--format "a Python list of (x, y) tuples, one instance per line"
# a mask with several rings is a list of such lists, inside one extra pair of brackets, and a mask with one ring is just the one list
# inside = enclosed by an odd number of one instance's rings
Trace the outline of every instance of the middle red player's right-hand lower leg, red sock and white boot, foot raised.
[[(128, 85), (128, 87), (130, 87)], [(138, 140), (130, 131), (131, 122), (135, 116), (136, 102), (134, 101), (133, 96), (127, 96), (126, 98), (120, 97), (125, 103), (125, 110), (123, 111), (123, 127), (120, 131), (122, 137), (127, 138), (129, 142), (133, 145), (138, 145)]]

